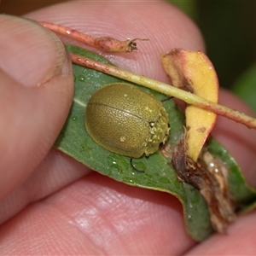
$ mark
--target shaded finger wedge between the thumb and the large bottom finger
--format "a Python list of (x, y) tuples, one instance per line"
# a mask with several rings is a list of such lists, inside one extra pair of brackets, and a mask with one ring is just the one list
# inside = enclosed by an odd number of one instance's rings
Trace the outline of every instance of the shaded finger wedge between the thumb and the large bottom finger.
[(44, 160), (0, 203), (0, 224), (3, 224), (32, 202), (40, 201), (83, 177), (90, 169), (59, 150), (49, 150)]

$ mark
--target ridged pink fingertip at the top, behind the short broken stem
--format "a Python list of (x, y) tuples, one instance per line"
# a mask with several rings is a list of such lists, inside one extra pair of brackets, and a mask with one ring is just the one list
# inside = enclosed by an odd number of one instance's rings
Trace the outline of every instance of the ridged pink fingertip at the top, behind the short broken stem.
[[(110, 36), (120, 40), (149, 38), (149, 41), (137, 42), (139, 51), (136, 53), (103, 55), (108, 56), (108, 59), (119, 67), (166, 82), (169, 82), (169, 79), (160, 65), (161, 52), (175, 47), (204, 49), (197, 27), (186, 15), (170, 8), (169, 3), (107, 2), (101, 4), (96, 1), (73, 1), (26, 16), (72, 27), (96, 37)], [(63, 39), (70, 42), (67, 38)]]

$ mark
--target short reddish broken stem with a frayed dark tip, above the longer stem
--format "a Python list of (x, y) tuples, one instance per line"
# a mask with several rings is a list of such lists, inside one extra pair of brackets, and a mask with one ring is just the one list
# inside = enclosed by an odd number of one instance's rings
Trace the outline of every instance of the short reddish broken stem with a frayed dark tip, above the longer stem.
[(67, 26), (61, 26), (49, 22), (39, 22), (44, 27), (48, 28), (52, 32), (59, 33), (67, 38), (73, 38), (83, 44), (90, 45), (96, 49), (101, 49), (105, 52), (134, 52), (137, 51), (137, 43), (135, 41), (148, 41), (146, 38), (134, 38), (120, 41), (116, 38), (101, 37), (95, 38), (90, 35), (84, 34)]

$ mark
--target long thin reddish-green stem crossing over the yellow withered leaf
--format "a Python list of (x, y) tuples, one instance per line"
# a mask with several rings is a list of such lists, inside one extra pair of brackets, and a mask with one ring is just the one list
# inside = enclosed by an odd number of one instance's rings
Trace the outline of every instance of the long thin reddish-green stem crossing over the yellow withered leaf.
[(119, 67), (103, 64), (102, 62), (94, 61), (80, 55), (70, 54), (70, 56), (73, 63), (95, 69), (102, 73), (108, 73), (114, 77), (125, 79), (134, 84), (143, 85), (152, 90), (157, 90), (163, 94), (166, 94), (167, 96), (174, 96), (180, 100), (183, 100), (183, 102), (187, 102), (188, 104), (195, 105), (213, 113), (217, 113), (228, 119), (232, 119), (238, 123), (247, 125), (249, 128), (256, 129), (256, 119), (253, 119), (252, 117), (247, 116), (244, 113), (240, 113), (234, 109), (224, 107), (217, 103), (209, 102), (200, 96), (196, 96), (195, 94), (188, 91), (178, 89), (177, 87), (174, 87), (170, 84), (164, 84), (154, 79), (143, 77), (137, 73), (131, 73)]

